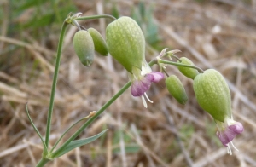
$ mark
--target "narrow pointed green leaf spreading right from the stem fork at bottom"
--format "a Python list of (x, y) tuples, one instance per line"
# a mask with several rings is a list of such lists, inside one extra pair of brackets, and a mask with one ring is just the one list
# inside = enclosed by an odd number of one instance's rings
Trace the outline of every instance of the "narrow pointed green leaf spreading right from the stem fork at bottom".
[[(95, 141), (97, 138), (99, 138), (100, 136), (102, 136), (107, 130), (103, 130), (101, 133), (97, 134), (97, 135), (93, 135), (91, 137), (88, 137), (86, 139), (80, 139), (80, 140), (76, 140), (76, 141), (71, 141), (67, 147), (65, 147), (61, 153), (57, 154), (54, 158), (57, 157), (61, 157), (61, 155), (64, 155), (65, 153), (73, 150), (76, 147), (81, 147), (84, 146), (85, 144), (88, 144), (92, 141)], [(57, 150), (56, 150), (57, 151)]]

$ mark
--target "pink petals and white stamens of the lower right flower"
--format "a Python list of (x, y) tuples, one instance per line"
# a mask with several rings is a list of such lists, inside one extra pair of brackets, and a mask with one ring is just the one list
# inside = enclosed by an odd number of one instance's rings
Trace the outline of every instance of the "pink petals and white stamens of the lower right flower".
[(227, 147), (227, 152), (232, 155), (230, 145), (233, 146), (236, 151), (238, 151), (232, 141), (236, 137), (236, 135), (243, 132), (243, 126), (241, 123), (234, 121), (233, 118), (225, 118), (224, 123), (219, 122), (218, 120), (215, 121), (218, 128), (216, 135), (218, 136), (219, 141), (222, 142), (224, 147)]

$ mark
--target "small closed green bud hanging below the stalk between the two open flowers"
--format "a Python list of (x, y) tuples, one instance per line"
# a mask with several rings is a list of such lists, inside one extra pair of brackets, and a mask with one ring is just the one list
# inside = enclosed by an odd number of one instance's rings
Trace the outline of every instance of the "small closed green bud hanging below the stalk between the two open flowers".
[(166, 88), (169, 93), (180, 103), (185, 104), (188, 101), (188, 96), (183, 87), (183, 83), (175, 75), (166, 78)]

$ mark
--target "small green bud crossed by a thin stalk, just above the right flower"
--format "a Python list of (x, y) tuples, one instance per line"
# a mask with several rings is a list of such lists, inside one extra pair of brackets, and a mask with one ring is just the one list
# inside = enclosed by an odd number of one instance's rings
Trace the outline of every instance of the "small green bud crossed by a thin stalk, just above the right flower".
[[(180, 58), (182, 64), (184, 65), (189, 65), (189, 66), (195, 66), (194, 63), (189, 60), (186, 57), (182, 57)], [(199, 74), (199, 72), (194, 69), (194, 68), (189, 68), (189, 67), (185, 67), (185, 66), (177, 66), (177, 69), (183, 73), (184, 76), (186, 76), (187, 78), (191, 78), (194, 79), (195, 76), (197, 76)]]

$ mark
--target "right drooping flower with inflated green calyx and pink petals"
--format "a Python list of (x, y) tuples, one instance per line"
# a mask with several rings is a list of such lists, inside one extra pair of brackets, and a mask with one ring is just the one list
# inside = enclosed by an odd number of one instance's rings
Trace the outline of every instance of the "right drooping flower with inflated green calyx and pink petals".
[(232, 140), (241, 134), (243, 126), (233, 120), (228, 84), (219, 72), (209, 69), (195, 77), (193, 88), (199, 105), (215, 119), (216, 135), (231, 155), (230, 145), (236, 149)]

